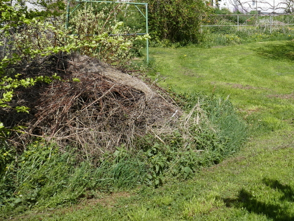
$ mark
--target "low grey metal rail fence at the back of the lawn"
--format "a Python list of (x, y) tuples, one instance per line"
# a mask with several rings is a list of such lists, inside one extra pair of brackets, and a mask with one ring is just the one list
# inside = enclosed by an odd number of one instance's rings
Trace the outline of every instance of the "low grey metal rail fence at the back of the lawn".
[[(201, 30), (212, 31), (259, 29), (272, 32), (280, 28), (294, 28), (294, 14), (208, 15), (202, 16)], [(233, 29), (232, 29), (233, 28)]]

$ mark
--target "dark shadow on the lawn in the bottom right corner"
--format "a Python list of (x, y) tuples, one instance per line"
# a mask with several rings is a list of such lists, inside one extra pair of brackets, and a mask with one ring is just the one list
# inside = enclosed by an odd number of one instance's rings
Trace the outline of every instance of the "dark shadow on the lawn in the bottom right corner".
[(284, 196), (275, 200), (275, 204), (257, 200), (254, 195), (241, 189), (237, 199), (223, 198), (227, 207), (245, 208), (250, 213), (266, 216), (273, 221), (294, 221), (294, 216), (289, 214), (287, 203), (294, 202), (294, 190), (289, 185), (283, 185), (278, 180), (264, 178), (263, 183), (279, 191)]

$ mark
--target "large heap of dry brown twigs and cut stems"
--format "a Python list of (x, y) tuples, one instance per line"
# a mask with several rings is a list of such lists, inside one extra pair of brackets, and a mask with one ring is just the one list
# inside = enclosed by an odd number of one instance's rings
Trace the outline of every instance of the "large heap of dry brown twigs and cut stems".
[[(63, 65), (57, 64), (61, 60)], [(38, 64), (39, 69), (29, 67), (26, 73), (44, 72)], [(29, 106), (30, 114), (1, 113), (5, 119), (0, 120), (7, 126), (16, 121), (26, 126), (23, 134), (12, 138), (15, 143), (26, 145), (33, 137), (42, 137), (60, 147), (78, 147), (86, 155), (100, 155), (121, 145), (136, 148), (139, 138), (175, 123), (181, 114), (158, 88), (96, 59), (72, 54), (49, 64), (48, 73), (64, 67), (60, 72), (63, 80), (17, 92), (17, 105)]]

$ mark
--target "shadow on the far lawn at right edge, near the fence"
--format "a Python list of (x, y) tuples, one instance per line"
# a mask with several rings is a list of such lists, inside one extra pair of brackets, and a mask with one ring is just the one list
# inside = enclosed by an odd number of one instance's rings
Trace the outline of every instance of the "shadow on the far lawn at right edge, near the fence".
[(253, 50), (266, 58), (294, 61), (294, 42), (266, 43)]

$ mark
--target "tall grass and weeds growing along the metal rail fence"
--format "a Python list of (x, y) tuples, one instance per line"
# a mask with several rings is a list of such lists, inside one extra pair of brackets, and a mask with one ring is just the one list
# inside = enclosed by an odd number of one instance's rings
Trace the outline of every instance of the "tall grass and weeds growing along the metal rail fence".
[[(226, 15), (226, 13), (224, 13), (224, 15)], [(236, 25), (238, 22), (239, 25), (247, 26), (237, 27)], [(239, 16), (239, 19), (236, 15), (206, 16), (202, 19), (202, 25), (220, 26), (203, 26), (202, 33), (204, 37), (201, 39), (199, 45), (204, 47), (214, 47), (254, 41), (292, 40), (294, 38), (292, 25), (280, 25), (282, 23), (293, 24), (293, 16), (280, 15), (272, 17), (256, 17), (246, 15)]]

